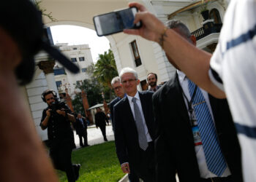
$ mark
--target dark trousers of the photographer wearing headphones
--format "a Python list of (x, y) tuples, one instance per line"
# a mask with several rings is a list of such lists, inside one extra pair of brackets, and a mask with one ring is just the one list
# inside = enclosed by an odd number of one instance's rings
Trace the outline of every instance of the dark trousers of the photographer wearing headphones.
[(75, 182), (75, 165), (71, 162), (72, 142), (55, 141), (50, 147), (50, 158), (53, 160), (53, 165), (57, 170), (66, 172), (67, 181)]

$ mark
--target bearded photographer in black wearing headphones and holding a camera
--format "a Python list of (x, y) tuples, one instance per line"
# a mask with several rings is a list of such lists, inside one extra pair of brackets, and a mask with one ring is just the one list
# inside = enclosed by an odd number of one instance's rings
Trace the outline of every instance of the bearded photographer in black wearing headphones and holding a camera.
[(45, 90), (42, 100), (48, 107), (42, 111), (41, 128), (48, 128), (50, 157), (57, 170), (66, 172), (69, 182), (77, 181), (80, 165), (72, 165), (71, 153), (73, 146), (72, 128), (70, 122), (75, 122), (72, 111), (63, 102), (59, 102), (56, 92)]

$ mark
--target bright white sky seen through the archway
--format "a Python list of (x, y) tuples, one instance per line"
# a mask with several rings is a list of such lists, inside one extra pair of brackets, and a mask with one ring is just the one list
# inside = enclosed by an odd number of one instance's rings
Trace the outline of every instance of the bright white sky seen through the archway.
[(50, 27), (54, 44), (68, 43), (69, 45), (89, 44), (91, 57), (97, 62), (99, 54), (110, 49), (109, 41), (105, 36), (97, 36), (96, 31), (75, 25), (55, 25)]

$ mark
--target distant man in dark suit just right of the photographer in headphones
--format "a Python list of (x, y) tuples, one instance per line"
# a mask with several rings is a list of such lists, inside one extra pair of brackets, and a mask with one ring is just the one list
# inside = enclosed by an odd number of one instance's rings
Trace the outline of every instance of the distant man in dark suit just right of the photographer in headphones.
[(82, 117), (82, 114), (78, 113), (78, 117), (76, 118), (75, 122), (75, 130), (77, 132), (77, 135), (79, 136), (80, 146), (85, 147), (88, 145), (88, 139), (87, 139), (87, 123), (86, 119)]

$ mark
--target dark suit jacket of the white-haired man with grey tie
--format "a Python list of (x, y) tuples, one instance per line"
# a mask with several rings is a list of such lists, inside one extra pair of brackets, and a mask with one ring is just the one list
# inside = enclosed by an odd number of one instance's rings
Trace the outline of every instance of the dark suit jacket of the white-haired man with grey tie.
[[(139, 95), (148, 132), (154, 141), (153, 92), (139, 92)], [(119, 162), (129, 162), (130, 166), (137, 166), (140, 162), (138, 132), (127, 97), (114, 106), (114, 113), (114, 121), (118, 121), (115, 124), (115, 142)]]

